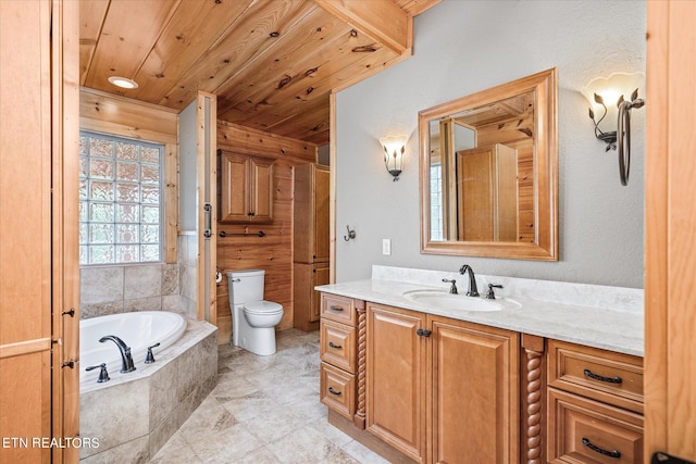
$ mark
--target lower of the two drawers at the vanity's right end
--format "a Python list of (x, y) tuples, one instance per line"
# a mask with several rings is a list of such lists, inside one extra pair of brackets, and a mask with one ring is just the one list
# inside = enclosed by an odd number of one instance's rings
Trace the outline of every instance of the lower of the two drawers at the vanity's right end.
[(643, 416), (550, 388), (548, 461), (643, 463)]

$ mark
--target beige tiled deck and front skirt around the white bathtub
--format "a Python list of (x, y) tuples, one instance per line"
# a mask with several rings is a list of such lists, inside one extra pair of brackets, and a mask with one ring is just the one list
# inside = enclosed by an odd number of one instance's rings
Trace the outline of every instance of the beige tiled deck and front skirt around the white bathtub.
[(189, 321), (182, 338), (156, 353), (156, 363), (105, 384), (80, 385), (82, 437), (99, 439), (80, 461), (145, 463), (187, 419), (217, 383), (217, 328)]

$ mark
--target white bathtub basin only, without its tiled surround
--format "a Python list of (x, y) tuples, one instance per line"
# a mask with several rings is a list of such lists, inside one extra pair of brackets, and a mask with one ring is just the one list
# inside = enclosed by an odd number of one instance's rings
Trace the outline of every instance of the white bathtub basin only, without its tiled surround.
[(107, 364), (109, 375), (121, 371), (121, 352), (116, 344), (99, 339), (105, 335), (115, 335), (130, 347), (130, 355), (136, 369), (147, 366), (145, 356), (148, 347), (154, 359), (158, 352), (178, 340), (186, 330), (186, 319), (176, 313), (166, 311), (139, 311), (134, 313), (111, 314), (79, 322), (79, 383), (97, 381), (99, 369), (85, 371), (89, 366)]

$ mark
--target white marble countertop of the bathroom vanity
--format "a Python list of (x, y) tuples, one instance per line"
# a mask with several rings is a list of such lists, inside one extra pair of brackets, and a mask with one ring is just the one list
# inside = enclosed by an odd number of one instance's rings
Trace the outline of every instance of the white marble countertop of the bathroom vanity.
[[(460, 283), (460, 293), (465, 293), (467, 283), (464, 279)], [(607, 305), (583, 305), (576, 302), (543, 301), (530, 298), (524, 291), (510, 293), (510, 290), (508, 290), (508, 294), (502, 290), (497, 290), (496, 294), (500, 294), (499, 301), (504, 308), (500, 311), (488, 312), (445, 310), (437, 308), (437, 305), (413, 301), (405, 296), (405, 293), (418, 290), (446, 291), (446, 284), (443, 287), (389, 280), (375, 278), (373, 275), (372, 279), (331, 284), (315, 288), (327, 293), (643, 356), (644, 321), (642, 311), (626, 309), (621, 304), (617, 304), (617, 309), (614, 309), (607, 308)], [(513, 288), (514, 285), (510, 287)], [(486, 287), (478, 286), (482, 296), (486, 290)], [(461, 298), (471, 297), (461, 294)], [(509, 300), (513, 300), (520, 305), (509, 304)]]

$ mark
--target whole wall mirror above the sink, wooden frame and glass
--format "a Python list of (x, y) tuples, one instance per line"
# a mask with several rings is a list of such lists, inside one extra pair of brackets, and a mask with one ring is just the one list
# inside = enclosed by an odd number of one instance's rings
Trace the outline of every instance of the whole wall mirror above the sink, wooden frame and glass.
[(557, 71), (419, 112), (421, 252), (558, 261)]

